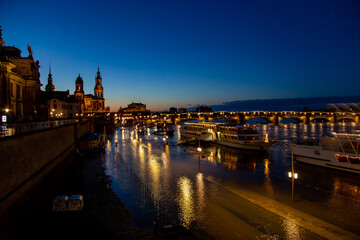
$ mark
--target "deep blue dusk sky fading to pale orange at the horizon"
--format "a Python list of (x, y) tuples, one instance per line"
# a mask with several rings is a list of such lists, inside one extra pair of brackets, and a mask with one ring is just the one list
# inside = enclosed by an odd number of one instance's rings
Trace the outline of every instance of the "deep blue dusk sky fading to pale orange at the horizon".
[(112, 111), (360, 90), (358, 0), (1, 0), (0, 25), (43, 88), (51, 62), (57, 90), (93, 93), (99, 65)]

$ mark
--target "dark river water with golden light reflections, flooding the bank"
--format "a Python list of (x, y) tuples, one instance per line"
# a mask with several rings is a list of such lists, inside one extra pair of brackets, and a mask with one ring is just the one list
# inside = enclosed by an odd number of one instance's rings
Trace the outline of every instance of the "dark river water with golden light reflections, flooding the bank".
[[(111, 187), (133, 212), (133, 224), (181, 224), (200, 239), (322, 239), (312, 227), (273, 211), (306, 214), (360, 236), (360, 175), (297, 163), (292, 201), (291, 152), (282, 143), (331, 132), (355, 133), (354, 123), (256, 125), (277, 142), (267, 152), (217, 145), (181, 146), (180, 125), (169, 137), (115, 129), (102, 156)], [(154, 129), (150, 129), (154, 132)], [(116, 144), (117, 143), (117, 144)], [(259, 204), (249, 201), (259, 196)], [(256, 197), (255, 197), (256, 198)], [(281, 205), (284, 204), (284, 205)], [(277, 205), (274, 205), (276, 208)]]

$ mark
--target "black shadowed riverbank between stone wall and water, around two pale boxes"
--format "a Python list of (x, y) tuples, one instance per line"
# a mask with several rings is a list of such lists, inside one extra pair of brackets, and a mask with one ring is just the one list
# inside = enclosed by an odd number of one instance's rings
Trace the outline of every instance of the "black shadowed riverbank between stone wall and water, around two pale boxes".
[[(103, 158), (76, 157), (47, 196), (26, 207), (17, 218), (16, 238), (153, 239), (151, 230), (136, 229), (132, 214), (108, 187)], [(56, 195), (81, 194), (79, 212), (52, 212)]]

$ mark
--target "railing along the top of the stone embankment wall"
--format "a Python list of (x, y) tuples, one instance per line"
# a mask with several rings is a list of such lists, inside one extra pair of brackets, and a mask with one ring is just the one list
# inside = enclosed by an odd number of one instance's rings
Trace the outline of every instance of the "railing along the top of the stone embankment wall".
[(79, 122), (79, 119), (66, 119), (45, 122), (15, 123), (1, 126), (0, 137), (14, 136), (23, 133), (37, 132), (49, 128), (56, 128), (64, 125)]

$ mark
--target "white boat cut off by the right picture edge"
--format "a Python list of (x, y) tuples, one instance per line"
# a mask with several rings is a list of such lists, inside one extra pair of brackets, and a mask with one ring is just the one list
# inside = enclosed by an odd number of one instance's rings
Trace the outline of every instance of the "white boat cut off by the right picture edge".
[(360, 173), (360, 134), (333, 133), (319, 140), (290, 144), (299, 162)]

